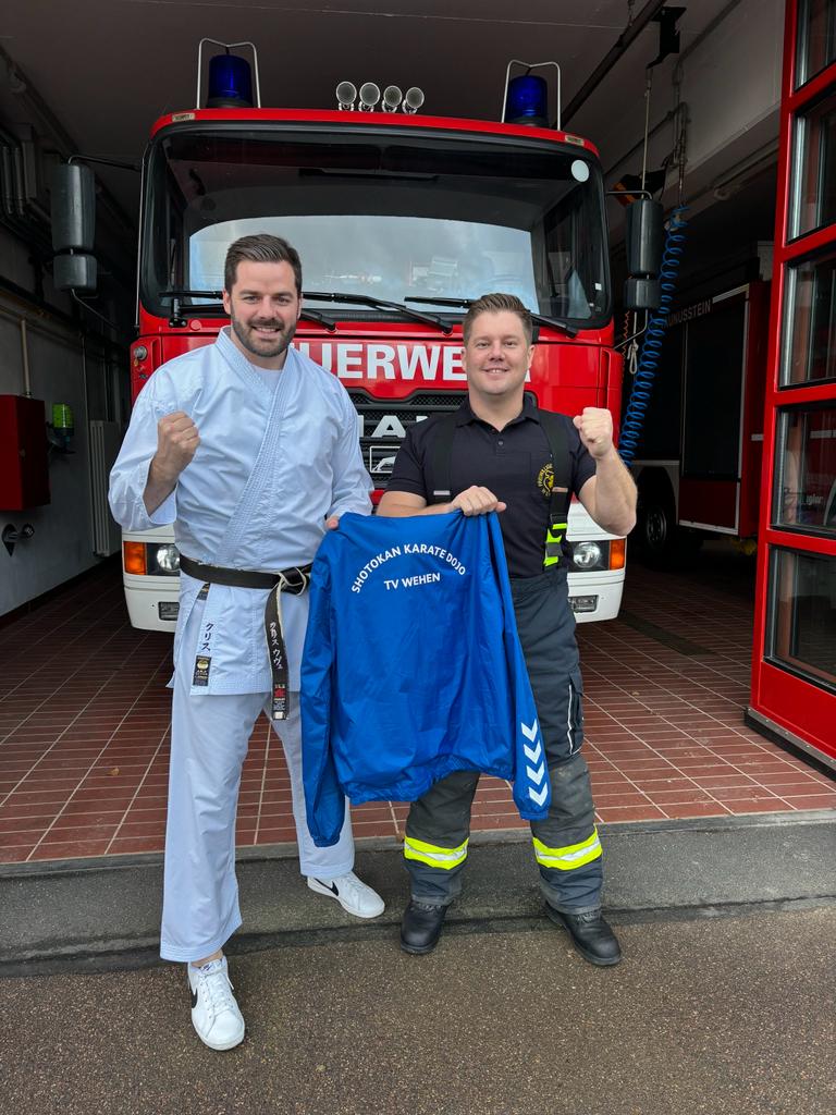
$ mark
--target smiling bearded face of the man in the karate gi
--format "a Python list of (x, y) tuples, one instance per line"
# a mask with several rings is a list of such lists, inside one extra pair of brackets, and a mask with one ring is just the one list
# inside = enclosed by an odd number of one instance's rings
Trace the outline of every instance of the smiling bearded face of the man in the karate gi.
[(283, 368), (302, 310), (290, 263), (242, 260), (223, 298), (233, 340), (246, 358), (261, 368)]

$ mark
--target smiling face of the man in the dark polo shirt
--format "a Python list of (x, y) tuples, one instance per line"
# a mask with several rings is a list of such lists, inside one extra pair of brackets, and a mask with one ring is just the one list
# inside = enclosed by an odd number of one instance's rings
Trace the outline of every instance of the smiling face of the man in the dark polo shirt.
[(522, 405), (525, 377), (534, 346), (516, 313), (500, 310), (474, 319), (465, 345), (465, 370), (470, 392), (489, 404), (518, 397)]

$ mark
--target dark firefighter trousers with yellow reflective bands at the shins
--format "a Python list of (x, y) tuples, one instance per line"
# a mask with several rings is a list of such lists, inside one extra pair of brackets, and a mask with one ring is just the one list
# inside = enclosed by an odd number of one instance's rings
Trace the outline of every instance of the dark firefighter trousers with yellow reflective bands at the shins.
[[(511, 588), (552, 785), (547, 818), (532, 823), (539, 885), (556, 910), (584, 913), (601, 906), (603, 859), (580, 754), (583, 683), (566, 572), (558, 566)], [(457, 770), (412, 803), (404, 854), (415, 900), (447, 905), (460, 893), (478, 780), (476, 770)]]

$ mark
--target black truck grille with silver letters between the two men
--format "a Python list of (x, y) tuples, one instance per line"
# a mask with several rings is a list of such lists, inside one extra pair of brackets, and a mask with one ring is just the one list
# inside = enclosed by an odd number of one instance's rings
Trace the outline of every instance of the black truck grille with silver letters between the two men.
[(466, 391), (416, 391), (406, 399), (376, 399), (366, 391), (349, 391), (362, 423), (360, 448), (375, 482), (385, 488), (407, 430), (430, 415), (457, 410)]

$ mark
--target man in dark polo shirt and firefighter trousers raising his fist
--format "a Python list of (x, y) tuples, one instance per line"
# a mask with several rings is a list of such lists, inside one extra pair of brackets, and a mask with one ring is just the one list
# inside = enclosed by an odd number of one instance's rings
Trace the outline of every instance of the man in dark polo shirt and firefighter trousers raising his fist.
[[(552, 784), (548, 818), (532, 824), (546, 913), (568, 930), (591, 963), (615, 964), (621, 949), (601, 915), (601, 844), (580, 752), (583, 689), (566, 585), (568, 552), (565, 529), (555, 533), (552, 522), (551, 487), (555, 477), (565, 479), (599, 526), (624, 535), (635, 523), (635, 485), (613, 446), (609, 410), (548, 415), (525, 395), (533, 323), (519, 299), (484, 295), (468, 310), (463, 333), (467, 401), (453, 419), (435, 416), (409, 429), (379, 514), (502, 513), (514, 610)], [(553, 459), (555, 454), (561, 459)], [(456, 772), (409, 811), (404, 854), (411, 900), (401, 923), (407, 952), (435, 948), (447, 908), (461, 890), (478, 780), (477, 772)]]

